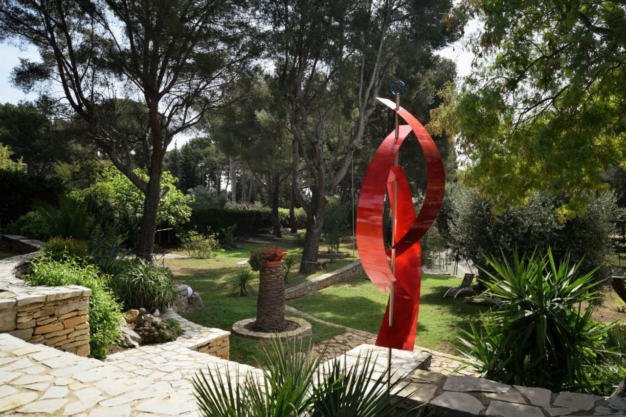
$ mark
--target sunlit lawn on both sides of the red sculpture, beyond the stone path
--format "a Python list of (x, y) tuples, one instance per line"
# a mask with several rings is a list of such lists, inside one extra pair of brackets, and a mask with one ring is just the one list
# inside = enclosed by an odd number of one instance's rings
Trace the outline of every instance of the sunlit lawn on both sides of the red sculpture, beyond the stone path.
[[(461, 279), (449, 275), (423, 275), (416, 343), (424, 348), (457, 353), (453, 343), (459, 327), (468, 328), (480, 306), (444, 298)], [(289, 305), (324, 321), (377, 333), (387, 306), (387, 294), (377, 291), (364, 276), (328, 287)]]

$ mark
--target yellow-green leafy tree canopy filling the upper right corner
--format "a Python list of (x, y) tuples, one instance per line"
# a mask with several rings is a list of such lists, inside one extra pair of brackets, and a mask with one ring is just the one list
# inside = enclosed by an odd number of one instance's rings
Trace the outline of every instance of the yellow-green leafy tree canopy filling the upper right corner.
[(501, 211), (533, 190), (565, 192), (580, 215), (600, 174), (626, 163), (623, 1), (464, 1), (450, 20), (478, 18), (475, 70), (443, 91), (429, 126), (469, 158), (464, 179)]

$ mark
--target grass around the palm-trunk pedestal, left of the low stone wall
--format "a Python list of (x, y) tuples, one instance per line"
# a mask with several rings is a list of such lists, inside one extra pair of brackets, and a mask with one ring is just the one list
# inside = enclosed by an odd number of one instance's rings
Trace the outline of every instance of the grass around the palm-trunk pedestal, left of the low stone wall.
[[(185, 315), (187, 319), (207, 327), (218, 327), (228, 330), (233, 323), (242, 319), (254, 317), (256, 314), (257, 300), (251, 297), (228, 296), (228, 279), (240, 265), (237, 260), (247, 259), (250, 247), (258, 245), (245, 244), (245, 249), (223, 252), (218, 259), (168, 259), (167, 265), (174, 273), (177, 282), (188, 284), (194, 291), (200, 293), (204, 307)], [(297, 251), (299, 249), (290, 248)], [(345, 264), (346, 262), (343, 262)], [(334, 262), (334, 266), (339, 263)], [(338, 266), (337, 266), (338, 267)], [(300, 275), (295, 271), (294, 281), (302, 282), (310, 277), (327, 272), (317, 272), (313, 275)], [(330, 339), (337, 334), (342, 334), (344, 329), (326, 326), (312, 322), (314, 342)], [(230, 358), (242, 363), (256, 363), (259, 342), (241, 337), (230, 337)]]

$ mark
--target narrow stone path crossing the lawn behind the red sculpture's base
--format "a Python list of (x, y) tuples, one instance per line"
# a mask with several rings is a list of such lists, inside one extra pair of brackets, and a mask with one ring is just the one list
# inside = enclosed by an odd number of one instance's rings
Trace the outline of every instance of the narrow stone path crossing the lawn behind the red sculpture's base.
[[(339, 324), (318, 319), (315, 316), (311, 316), (310, 314), (294, 309), (294, 307), (287, 306), (285, 307), (285, 311), (293, 314), (299, 314), (307, 320), (317, 321), (322, 324), (326, 324), (327, 326), (344, 327), (340, 326)], [(344, 352), (354, 349), (361, 344), (376, 343), (376, 334), (358, 329), (351, 329), (350, 327), (344, 327), (344, 329), (346, 329), (346, 332), (344, 334), (339, 334), (332, 337), (331, 339), (328, 339), (327, 341), (316, 343), (313, 347), (314, 353), (324, 353), (324, 361), (327, 361), (329, 359), (336, 358), (337, 356), (342, 355)], [(324, 351), (325, 348), (326, 351)], [(429, 353), (432, 355), (431, 365), (429, 368), (430, 371), (441, 373), (444, 375), (460, 374), (468, 376), (478, 376), (478, 373), (475, 373), (471, 369), (466, 368), (464, 364), (461, 363), (461, 358), (459, 358), (458, 356), (453, 356), (447, 353), (422, 348), (418, 345), (415, 345), (414, 352)]]

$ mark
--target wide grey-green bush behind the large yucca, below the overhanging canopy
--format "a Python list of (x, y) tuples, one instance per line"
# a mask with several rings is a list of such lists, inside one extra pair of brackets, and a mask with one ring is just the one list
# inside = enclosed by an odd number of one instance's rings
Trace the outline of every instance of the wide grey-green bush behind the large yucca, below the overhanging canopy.
[[(552, 247), (558, 259), (569, 252), (573, 262), (580, 262), (580, 272), (600, 266), (598, 279), (610, 275), (606, 256), (610, 252), (608, 236), (614, 233), (612, 223), (615, 197), (612, 194), (592, 195), (585, 214), (574, 219), (560, 219), (557, 210), (564, 197), (536, 192), (523, 207), (510, 207), (495, 213), (497, 202), (480, 198), (476, 190), (455, 187), (446, 194), (449, 210), (448, 243), (454, 252), (482, 269), (489, 269), (485, 255), (502, 261), (511, 259), (513, 248), (531, 253), (537, 247)], [(444, 235), (446, 232), (443, 228)], [(493, 272), (493, 271), (492, 271)]]

